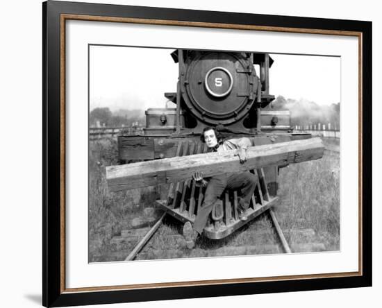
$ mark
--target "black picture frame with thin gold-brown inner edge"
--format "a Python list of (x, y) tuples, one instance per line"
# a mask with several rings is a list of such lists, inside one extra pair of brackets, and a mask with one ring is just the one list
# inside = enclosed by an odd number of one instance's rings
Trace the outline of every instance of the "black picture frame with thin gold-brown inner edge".
[[(258, 26), (274, 31), (301, 31), (319, 33), (350, 31), (359, 33), (362, 54), (360, 68), (360, 272), (343, 277), (305, 277), (224, 284), (167, 284), (140, 289), (65, 289), (65, 97), (61, 56), (65, 49), (62, 33), (63, 15), (92, 17), (133, 18), (167, 22)], [(42, 3), (43, 37), (43, 259), (42, 304), (45, 307), (96, 305), (117, 302), (138, 302), (181, 298), (234, 296), (257, 293), (307, 291), (319, 289), (372, 286), (372, 22), (340, 19), (320, 19), (276, 15), (254, 15), (233, 12), (118, 6), (99, 3), (47, 1)], [(231, 27), (228, 26), (228, 27)], [(283, 30), (282, 30), (283, 29)], [(64, 45), (63, 45), (64, 40)], [(363, 82), (367, 80), (367, 82)], [(64, 105), (63, 105), (64, 102)], [(355, 136), (356, 138), (356, 136)], [(64, 243), (63, 243), (64, 241)]]

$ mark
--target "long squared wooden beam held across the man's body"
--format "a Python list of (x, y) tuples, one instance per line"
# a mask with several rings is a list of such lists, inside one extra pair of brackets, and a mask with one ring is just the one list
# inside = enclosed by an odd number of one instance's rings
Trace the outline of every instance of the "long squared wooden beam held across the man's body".
[(324, 155), (324, 145), (321, 138), (315, 137), (251, 146), (247, 150), (247, 162), (244, 164), (240, 164), (237, 153), (237, 150), (230, 150), (108, 166), (106, 180), (110, 191), (120, 191), (188, 180), (197, 171), (203, 173), (204, 177), (210, 177), (265, 166), (285, 166), (321, 158)]

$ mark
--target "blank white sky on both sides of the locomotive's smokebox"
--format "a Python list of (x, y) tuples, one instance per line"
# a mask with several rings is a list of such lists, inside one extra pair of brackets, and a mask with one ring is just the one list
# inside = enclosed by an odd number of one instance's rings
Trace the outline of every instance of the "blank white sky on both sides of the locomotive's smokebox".
[[(164, 92), (176, 92), (174, 49), (92, 46), (90, 110), (165, 108)], [(271, 54), (269, 94), (319, 105), (340, 102), (340, 58)]]

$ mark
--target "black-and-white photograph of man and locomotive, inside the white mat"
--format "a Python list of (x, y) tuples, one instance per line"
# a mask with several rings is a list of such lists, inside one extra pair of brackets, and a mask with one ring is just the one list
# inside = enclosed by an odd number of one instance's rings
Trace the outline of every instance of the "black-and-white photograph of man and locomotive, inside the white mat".
[(88, 262), (341, 250), (341, 58), (88, 47)]

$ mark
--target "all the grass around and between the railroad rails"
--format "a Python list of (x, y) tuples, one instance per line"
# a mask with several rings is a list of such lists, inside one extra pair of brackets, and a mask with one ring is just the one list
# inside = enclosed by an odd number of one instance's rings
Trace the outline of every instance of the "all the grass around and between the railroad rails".
[[(324, 144), (330, 144), (332, 148), (338, 142), (324, 140)], [(156, 187), (109, 193), (105, 166), (113, 164), (117, 164), (115, 140), (90, 143), (89, 262), (124, 259), (135, 242), (116, 243), (111, 239), (122, 230), (131, 229), (134, 220), (144, 216), (144, 209), (152, 207), (160, 194)], [(321, 160), (280, 169), (280, 200), (275, 212), (293, 251), (340, 249), (339, 171), (339, 155), (324, 155)], [(137, 259), (280, 253), (271, 226), (267, 216), (260, 216), (225, 239), (213, 241), (202, 237), (197, 241), (196, 249), (190, 251), (184, 248), (181, 237), (173, 236), (181, 234), (181, 223), (167, 217)], [(306, 247), (307, 242), (319, 245)], [(224, 250), (226, 246), (251, 249), (243, 253), (240, 249)], [(162, 253), (158, 247), (166, 249)]]

